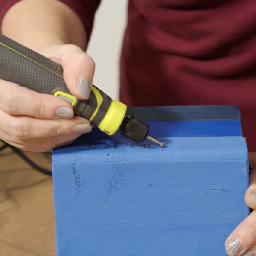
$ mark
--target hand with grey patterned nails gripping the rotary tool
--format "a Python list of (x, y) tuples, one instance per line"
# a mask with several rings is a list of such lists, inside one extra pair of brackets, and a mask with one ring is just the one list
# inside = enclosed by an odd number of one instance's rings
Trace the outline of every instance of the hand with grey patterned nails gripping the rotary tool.
[[(37, 50), (61, 64), (64, 80), (77, 99), (88, 99), (95, 64), (75, 45), (47, 45)], [(73, 116), (64, 99), (0, 80), (0, 139), (25, 151), (44, 152), (71, 143), (91, 131), (90, 122)]]

